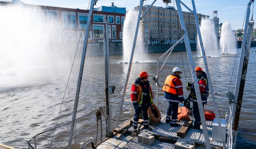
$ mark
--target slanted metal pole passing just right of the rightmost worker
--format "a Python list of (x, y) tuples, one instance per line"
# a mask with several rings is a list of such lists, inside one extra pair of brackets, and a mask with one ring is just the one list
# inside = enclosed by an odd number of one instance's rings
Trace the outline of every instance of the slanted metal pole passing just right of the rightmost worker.
[[(196, 24), (196, 28), (197, 28), (197, 31), (198, 31), (198, 38), (199, 38), (199, 42), (200, 42), (200, 46), (201, 46), (202, 57), (204, 59), (204, 66), (205, 66), (205, 70), (206, 70), (206, 74), (207, 74), (209, 89), (212, 93), (212, 102), (213, 102), (214, 110), (215, 110), (215, 113), (216, 113), (216, 118), (217, 118), (217, 122), (218, 122), (218, 126), (219, 126), (218, 128), (219, 128), (219, 132), (221, 134), (221, 140), (222, 140), (223, 146), (225, 147), (226, 146), (226, 144), (225, 144), (226, 136), (224, 136), (223, 133), (222, 133), (221, 120), (220, 120), (220, 117), (219, 117), (217, 103), (216, 103), (215, 95), (214, 95), (214, 92), (213, 92), (212, 80), (211, 80), (211, 77), (210, 77), (210, 74), (209, 74), (209, 68), (208, 68), (208, 65), (207, 65), (206, 55), (205, 55), (205, 52), (204, 52), (203, 40), (202, 40), (202, 36), (201, 36), (201, 31), (200, 31), (200, 27), (199, 27), (199, 22), (198, 22), (197, 12), (196, 12), (196, 9), (195, 9), (194, 0), (192, 0), (192, 6), (193, 6), (193, 12), (192, 13), (195, 16), (195, 24)], [(200, 117), (202, 117), (202, 116), (200, 115)], [(203, 117), (204, 117), (204, 115), (203, 115)]]

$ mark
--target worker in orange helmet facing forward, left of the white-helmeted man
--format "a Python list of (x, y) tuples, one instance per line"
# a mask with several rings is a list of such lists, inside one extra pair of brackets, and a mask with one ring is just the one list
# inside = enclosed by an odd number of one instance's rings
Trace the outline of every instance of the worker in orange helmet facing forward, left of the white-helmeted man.
[(148, 73), (140, 72), (140, 77), (137, 78), (131, 86), (131, 101), (134, 105), (135, 114), (133, 122), (133, 131), (137, 132), (140, 113), (143, 112), (144, 129), (152, 130), (148, 126), (148, 107), (153, 103), (152, 89), (148, 81)]

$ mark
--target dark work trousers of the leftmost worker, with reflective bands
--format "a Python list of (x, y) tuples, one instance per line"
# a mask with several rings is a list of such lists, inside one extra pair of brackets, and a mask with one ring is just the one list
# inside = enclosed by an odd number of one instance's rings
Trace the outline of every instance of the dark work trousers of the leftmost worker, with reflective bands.
[(148, 107), (147, 106), (142, 106), (138, 107), (138, 109), (135, 109), (135, 114), (134, 114), (134, 123), (133, 123), (133, 128), (137, 129), (138, 123), (139, 123), (139, 117), (140, 117), (140, 112), (142, 111), (143, 115), (143, 125), (147, 126), (148, 125)]

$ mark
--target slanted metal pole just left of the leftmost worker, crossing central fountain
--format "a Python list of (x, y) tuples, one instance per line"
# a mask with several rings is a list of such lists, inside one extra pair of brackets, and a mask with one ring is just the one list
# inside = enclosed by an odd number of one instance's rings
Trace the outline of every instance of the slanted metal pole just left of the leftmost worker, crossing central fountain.
[(134, 55), (134, 49), (135, 49), (135, 45), (136, 45), (136, 40), (137, 40), (137, 35), (138, 35), (138, 30), (139, 30), (139, 25), (140, 25), (140, 20), (142, 19), (141, 16), (141, 11), (142, 11), (142, 7), (143, 7), (143, 0), (140, 0), (140, 10), (139, 10), (139, 14), (138, 14), (138, 19), (137, 19), (137, 26), (136, 26), (136, 32), (134, 35), (134, 43), (132, 46), (132, 51), (131, 51), (131, 58), (130, 58), (130, 63), (129, 63), (129, 67), (128, 67), (128, 72), (127, 72), (127, 77), (126, 77), (126, 81), (125, 81), (125, 89), (122, 95), (122, 102), (120, 104), (120, 110), (119, 110), (119, 115), (118, 118), (116, 120), (116, 127), (118, 127), (119, 125), (119, 120), (121, 117), (121, 113), (122, 113), (122, 106), (124, 104), (124, 100), (125, 100), (125, 92), (127, 89), (127, 84), (128, 84), (128, 80), (129, 80), (129, 76), (130, 76), (130, 72), (131, 72), (131, 64), (132, 64), (132, 59), (133, 59), (133, 55)]

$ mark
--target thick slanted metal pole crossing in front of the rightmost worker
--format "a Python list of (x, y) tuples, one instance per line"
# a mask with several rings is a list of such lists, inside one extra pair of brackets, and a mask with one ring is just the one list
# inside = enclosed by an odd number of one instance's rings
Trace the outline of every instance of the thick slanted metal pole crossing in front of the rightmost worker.
[(182, 9), (181, 9), (181, 6), (180, 6), (180, 0), (176, 0), (176, 6), (177, 6), (178, 14), (179, 14), (180, 26), (181, 26), (182, 34), (183, 34), (183, 37), (184, 37), (186, 50), (187, 50), (187, 54), (188, 54), (188, 58), (189, 58), (190, 69), (191, 69), (191, 73), (192, 73), (192, 78), (193, 78), (193, 82), (194, 82), (194, 86), (195, 86), (195, 94), (196, 94), (197, 101), (198, 101), (198, 108), (199, 108), (199, 113), (200, 113), (200, 117), (201, 117), (201, 122), (203, 124), (203, 131), (204, 131), (204, 138), (205, 138), (206, 148), (210, 149), (211, 146), (210, 146), (209, 135), (208, 135), (208, 130), (207, 130), (207, 126), (206, 126), (206, 120), (205, 120), (205, 117), (204, 117), (204, 108), (203, 108), (203, 104), (202, 104), (199, 85), (198, 85), (198, 82), (197, 82), (197, 76), (196, 76), (196, 73), (195, 73), (195, 66), (194, 66), (192, 52), (191, 52), (191, 48), (190, 48), (190, 44), (189, 44), (189, 37), (188, 37), (188, 34), (187, 34), (185, 21), (184, 21), (184, 18), (183, 18), (183, 12), (182, 12)]

